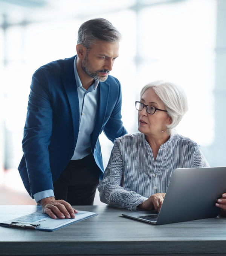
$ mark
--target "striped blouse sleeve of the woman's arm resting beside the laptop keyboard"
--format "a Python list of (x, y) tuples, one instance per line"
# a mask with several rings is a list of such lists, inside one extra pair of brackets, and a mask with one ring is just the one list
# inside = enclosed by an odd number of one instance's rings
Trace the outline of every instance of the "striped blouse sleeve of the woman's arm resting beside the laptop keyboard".
[(98, 185), (100, 200), (111, 207), (121, 207), (135, 211), (137, 206), (147, 198), (134, 191), (124, 190), (121, 187), (123, 175), (122, 155), (117, 140), (115, 140), (110, 160), (104, 172), (104, 179)]

